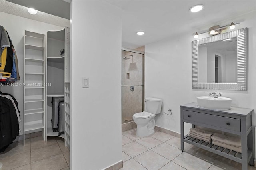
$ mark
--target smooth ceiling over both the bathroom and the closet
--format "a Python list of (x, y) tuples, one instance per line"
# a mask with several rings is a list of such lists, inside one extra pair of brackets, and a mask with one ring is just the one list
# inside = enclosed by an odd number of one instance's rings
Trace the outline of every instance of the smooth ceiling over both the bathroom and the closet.
[[(62, 18), (70, 16), (70, 10), (62, 5), (66, 6), (71, 0), (8, 1), (23, 3), (21, 4), (23, 6), (34, 5), (36, 6), (34, 8), (38, 10), (40, 8), (42, 12)], [(54, 3), (50, 5), (50, 2)], [(185, 32), (191, 32), (193, 36), (195, 32), (204, 32), (224, 20), (229, 24), (230, 18), (256, 10), (256, 0), (106, 0), (106, 2), (122, 9), (122, 47), (130, 49)], [(196, 4), (203, 4), (204, 9), (197, 13), (189, 12), (190, 7)], [(51, 8), (54, 5), (55, 7)], [(242, 21), (233, 20), (233, 22)], [(146, 34), (137, 36), (136, 32), (139, 30), (145, 31)]]

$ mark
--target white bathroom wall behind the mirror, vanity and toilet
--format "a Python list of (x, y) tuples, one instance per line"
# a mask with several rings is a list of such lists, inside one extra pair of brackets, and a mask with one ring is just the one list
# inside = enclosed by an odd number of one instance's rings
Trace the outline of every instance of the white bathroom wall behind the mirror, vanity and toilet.
[[(256, 125), (256, 12), (234, 17), (212, 25), (224, 26), (231, 21), (240, 22), (236, 29), (248, 27), (248, 90), (219, 90), (223, 97), (232, 98), (233, 107), (254, 109), (253, 126)], [(203, 26), (203, 25), (202, 25)], [(209, 26), (210, 27), (210, 26)], [(206, 96), (212, 90), (192, 89), (193, 32), (167, 38), (145, 46), (145, 97), (163, 99), (163, 110), (172, 109), (172, 115), (156, 116), (156, 125), (180, 133), (180, 105), (196, 102), (196, 97)], [(199, 38), (207, 37), (199, 35)], [(186, 130), (190, 125), (185, 125)]]

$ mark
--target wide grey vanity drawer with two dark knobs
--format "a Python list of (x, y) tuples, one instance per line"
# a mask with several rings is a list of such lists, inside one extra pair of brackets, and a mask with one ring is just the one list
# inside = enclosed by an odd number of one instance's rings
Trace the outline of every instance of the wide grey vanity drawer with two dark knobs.
[(183, 110), (184, 121), (193, 121), (240, 132), (240, 119)]

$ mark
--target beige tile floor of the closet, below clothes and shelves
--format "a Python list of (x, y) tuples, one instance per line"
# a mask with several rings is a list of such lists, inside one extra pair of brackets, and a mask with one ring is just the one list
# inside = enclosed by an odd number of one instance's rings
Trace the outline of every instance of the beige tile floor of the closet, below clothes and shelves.
[(0, 161), (1, 170), (69, 170), (69, 150), (62, 138), (40, 136), (10, 144)]

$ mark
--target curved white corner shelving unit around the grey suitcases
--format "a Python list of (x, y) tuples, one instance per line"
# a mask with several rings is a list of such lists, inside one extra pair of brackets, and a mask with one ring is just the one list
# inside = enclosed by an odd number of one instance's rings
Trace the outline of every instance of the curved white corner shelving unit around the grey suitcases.
[[(69, 46), (70, 46), (70, 28), (65, 27), (62, 30), (48, 31), (46, 34), (46, 136), (58, 136), (58, 132), (52, 131), (52, 97), (64, 97), (65, 101), (65, 134), (60, 135), (65, 139), (65, 144), (69, 144), (69, 133), (66, 132), (66, 123), (69, 124)], [(60, 51), (64, 49), (63, 56)], [(68, 77), (68, 79), (66, 78)], [(67, 92), (68, 89), (68, 92)], [(66, 134), (68, 133), (68, 134)], [(68, 141), (66, 141), (68, 139)], [(47, 138), (46, 138), (47, 140)], [(67, 145), (66, 145), (67, 146)], [(69, 145), (68, 145), (69, 146)]]

